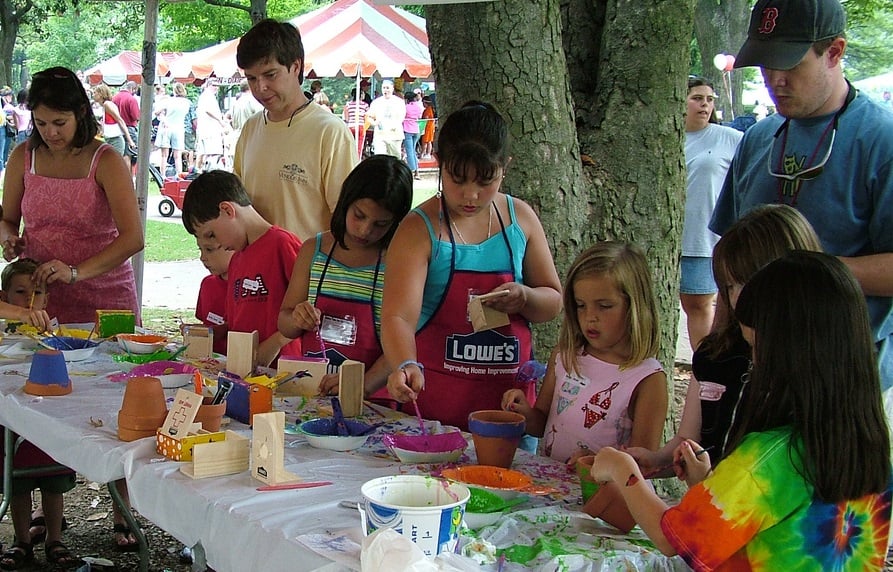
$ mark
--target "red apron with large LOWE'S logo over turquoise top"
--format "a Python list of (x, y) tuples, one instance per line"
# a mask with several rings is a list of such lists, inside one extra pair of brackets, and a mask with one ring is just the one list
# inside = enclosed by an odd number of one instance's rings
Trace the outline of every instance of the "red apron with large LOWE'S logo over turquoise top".
[(418, 360), (425, 366), (425, 387), (418, 398), (422, 415), (466, 431), (468, 414), (501, 409), (502, 394), (508, 389), (525, 389), (531, 403), (536, 399), (536, 384), (515, 381), (518, 368), (533, 354), (527, 320), (512, 314), (507, 326), (475, 333), (468, 319), (469, 291), (484, 294), (515, 281), (518, 275), (502, 217), (499, 225), (512, 268), (461, 270), (456, 268), (456, 243), (447, 217), (452, 243), (450, 278), (437, 310), (416, 333)]

